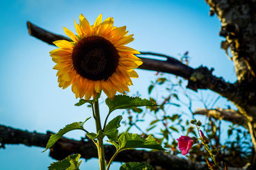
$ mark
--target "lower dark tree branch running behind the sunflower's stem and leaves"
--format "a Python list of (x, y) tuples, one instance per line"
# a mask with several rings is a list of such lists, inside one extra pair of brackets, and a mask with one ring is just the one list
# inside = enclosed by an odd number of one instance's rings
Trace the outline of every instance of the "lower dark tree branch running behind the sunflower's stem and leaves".
[[(5, 144), (25, 144), (26, 146), (39, 146), (45, 148), (51, 132), (40, 134), (28, 132), (12, 127), (0, 125), (0, 143), (2, 148)], [(115, 153), (115, 146), (104, 145), (106, 160)], [(92, 141), (68, 139), (61, 137), (50, 150), (50, 156), (56, 160), (61, 160), (72, 153), (80, 153), (82, 158), (97, 158), (97, 148)], [(162, 169), (207, 169), (207, 166), (175, 155), (164, 153), (163, 151), (126, 150), (122, 151), (115, 158), (116, 162), (147, 162)]]

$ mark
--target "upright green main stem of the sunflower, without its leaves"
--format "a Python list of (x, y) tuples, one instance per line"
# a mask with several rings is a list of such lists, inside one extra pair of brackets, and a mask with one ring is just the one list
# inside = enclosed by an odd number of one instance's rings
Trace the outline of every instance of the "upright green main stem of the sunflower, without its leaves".
[[(99, 100), (95, 101), (94, 103), (94, 110), (95, 110), (95, 124), (97, 133), (99, 130), (102, 130), (101, 123), (100, 123), (100, 111), (99, 111)], [(105, 154), (104, 154), (104, 145), (103, 145), (103, 138), (99, 137), (97, 139), (97, 149), (98, 149), (98, 155), (99, 155), (99, 164), (100, 164), (100, 170), (105, 170)]]

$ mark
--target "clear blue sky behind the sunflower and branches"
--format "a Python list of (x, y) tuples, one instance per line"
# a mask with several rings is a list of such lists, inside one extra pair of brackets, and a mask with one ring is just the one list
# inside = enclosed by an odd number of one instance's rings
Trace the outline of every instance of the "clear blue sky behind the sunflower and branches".
[[(188, 50), (192, 67), (213, 67), (215, 75), (230, 82), (236, 80), (232, 62), (220, 49), (220, 20), (209, 16), (209, 6), (203, 0), (4, 1), (0, 6), (0, 124), (45, 133), (90, 116), (86, 107), (74, 106), (78, 100), (70, 88), (58, 88), (49, 56), (55, 47), (29, 36), (26, 28), (29, 20), (65, 35), (63, 26), (74, 31), (74, 19), (78, 20), (80, 13), (90, 23), (99, 13), (104, 19), (114, 17), (115, 26), (127, 26), (129, 33), (134, 34), (135, 40), (129, 44), (134, 49), (170, 56)], [(142, 97), (148, 98), (145, 84), (154, 79), (154, 72), (137, 71), (140, 77), (133, 81), (131, 93), (140, 91)], [(104, 114), (106, 108), (102, 107)], [(87, 126), (94, 130), (93, 121)], [(66, 136), (79, 139), (81, 135), (70, 132)], [(52, 159), (42, 150), (6, 145), (6, 150), (0, 149), (0, 169), (46, 169)], [(112, 168), (119, 166), (117, 163)], [(82, 163), (81, 169), (89, 168), (98, 169), (96, 159)]]

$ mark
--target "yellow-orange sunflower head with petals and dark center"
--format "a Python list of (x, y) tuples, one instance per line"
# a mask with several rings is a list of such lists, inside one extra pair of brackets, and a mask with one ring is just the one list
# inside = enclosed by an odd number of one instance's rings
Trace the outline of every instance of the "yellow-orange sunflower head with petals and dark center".
[(81, 14), (75, 27), (77, 35), (63, 27), (72, 42), (53, 42), (59, 49), (50, 52), (60, 88), (72, 85), (76, 98), (86, 100), (94, 98), (101, 89), (111, 100), (116, 91), (129, 91), (131, 78), (138, 77), (133, 69), (142, 64), (134, 56), (140, 52), (124, 46), (134, 40), (133, 35), (127, 35), (125, 26), (114, 27), (112, 17), (102, 22), (102, 14), (92, 26)]

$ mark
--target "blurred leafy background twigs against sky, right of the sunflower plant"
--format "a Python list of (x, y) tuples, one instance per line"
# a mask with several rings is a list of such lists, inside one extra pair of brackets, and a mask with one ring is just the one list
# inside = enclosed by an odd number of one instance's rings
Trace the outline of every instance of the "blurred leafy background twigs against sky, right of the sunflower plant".
[[(188, 52), (180, 55), (180, 61), (188, 65)], [(176, 136), (180, 134), (197, 136), (196, 128), (189, 123), (189, 120), (195, 118), (194, 105), (200, 104), (205, 109), (214, 109), (220, 96), (204, 98), (202, 93), (196, 94), (186, 89), (187, 83), (184, 79), (161, 72), (157, 72), (154, 79), (148, 86), (148, 95), (150, 101), (158, 104), (159, 107), (147, 107), (140, 112), (128, 109), (127, 112), (123, 112), (124, 117), (128, 118), (124, 121), (124, 125), (127, 127), (127, 132), (131, 128), (137, 128), (145, 137), (154, 135), (170, 154), (180, 155)], [(227, 105), (227, 108), (229, 109), (230, 105)], [(202, 116), (198, 118), (202, 119)], [(145, 120), (151, 120), (147, 126)], [(248, 130), (237, 125), (229, 125), (228, 128), (221, 129), (223, 124), (227, 126), (227, 122), (223, 123), (223, 120), (211, 117), (206, 117), (202, 123), (205, 135), (211, 141), (209, 149), (216, 150), (216, 161), (222, 167), (225, 164), (232, 167), (245, 166), (252, 157)], [(221, 137), (228, 139), (221, 140)], [(205, 162), (205, 158), (211, 160), (203, 146), (200, 143), (194, 144), (186, 157), (198, 162)]]

